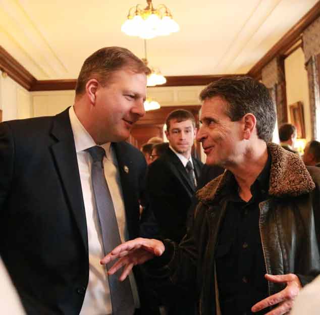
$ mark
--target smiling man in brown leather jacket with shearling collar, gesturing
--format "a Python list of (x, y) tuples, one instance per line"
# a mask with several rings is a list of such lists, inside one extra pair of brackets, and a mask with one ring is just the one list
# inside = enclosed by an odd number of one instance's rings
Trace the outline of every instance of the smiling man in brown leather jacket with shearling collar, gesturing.
[(198, 314), (288, 313), (320, 274), (320, 170), (269, 143), (276, 113), (263, 84), (223, 78), (200, 98), (197, 140), (206, 164), (226, 171), (197, 192), (192, 229), (180, 244), (129, 241), (102, 263), (121, 257), (109, 272), (125, 266), (123, 280), (149, 260), (159, 286), (194, 290)]

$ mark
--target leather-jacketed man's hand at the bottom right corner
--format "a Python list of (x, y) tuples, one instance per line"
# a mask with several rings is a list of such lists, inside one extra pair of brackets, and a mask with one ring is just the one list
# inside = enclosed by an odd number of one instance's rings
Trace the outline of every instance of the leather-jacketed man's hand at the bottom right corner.
[(286, 283), (287, 286), (282, 291), (254, 304), (251, 311), (257, 312), (265, 307), (279, 304), (276, 308), (265, 315), (282, 315), (288, 313), (292, 308), (293, 300), (302, 288), (299, 278), (294, 274), (279, 276), (265, 275), (264, 278), (275, 283)]

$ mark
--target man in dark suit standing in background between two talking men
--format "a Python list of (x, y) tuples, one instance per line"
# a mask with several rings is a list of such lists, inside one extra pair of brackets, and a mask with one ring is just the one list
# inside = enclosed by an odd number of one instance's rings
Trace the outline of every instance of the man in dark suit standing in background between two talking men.
[[(149, 165), (146, 187), (161, 236), (180, 242), (186, 233), (188, 209), (203, 164), (191, 156), (196, 133), (193, 115), (175, 110), (167, 117), (166, 126), (169, 147)], [(184, 293), (180, 300), (176, 296), (167, 303), (168, 314), (194, 313), (192, 300), (187, 300)]]

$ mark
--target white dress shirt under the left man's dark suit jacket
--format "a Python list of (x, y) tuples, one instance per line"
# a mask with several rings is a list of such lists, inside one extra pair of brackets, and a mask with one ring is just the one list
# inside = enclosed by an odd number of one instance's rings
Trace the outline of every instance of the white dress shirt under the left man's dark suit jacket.
[[(84, 151), (89, 147), (95, 146), (96, 143), (77, 118), (73, 107), (69, 110), (69, 117), (77, 152), (89, 246), (89, 283), (84, 296), (80, 315), (112, 314), (108, 275), (106, 274), (105, 266), (100, 265), (100, 259), (104, 256), (104, 253), (101, 229), (92, 190), (92, 158), (88, 152)], [(100, 146), (105, 150), (106, 156), (102, 161), (104, 176), (108, 183), (112, 201), (114, 203), (120, 238), (121, 241), (124, 242), (129, 239), (129, 236), (118, 163), (110, 142)], [(138, 308), (139, 298), (132, 273), (129, 275), (129, 280), (135, 306)]]

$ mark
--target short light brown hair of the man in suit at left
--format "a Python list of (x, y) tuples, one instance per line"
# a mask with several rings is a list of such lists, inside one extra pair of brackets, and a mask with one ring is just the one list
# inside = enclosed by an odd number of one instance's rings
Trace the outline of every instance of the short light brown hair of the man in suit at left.
[(130, 50), (123, 47), (103, 47), (83, 63), (76, 85), (76, 96), (85, 91), (87, 82), (96, 79), (104, 86), (111, 75), (123, 68), (128, 68), (135, 73), (145, 73), (148, 75), (150, 69), (143, 61), (131, 53)]

